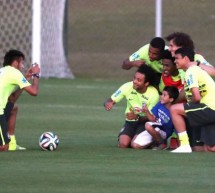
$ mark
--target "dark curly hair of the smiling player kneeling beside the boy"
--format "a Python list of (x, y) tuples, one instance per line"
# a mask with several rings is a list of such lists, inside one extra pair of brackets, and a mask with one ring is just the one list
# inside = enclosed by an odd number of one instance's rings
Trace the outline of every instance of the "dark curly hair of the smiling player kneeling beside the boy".
[(141, 65), (137, 72), (145, 75), (145, 82), (149, 82), (149, 85), (155, 85), (155, 72), (150, 66), (147, 64)]

